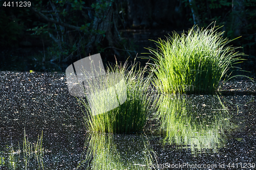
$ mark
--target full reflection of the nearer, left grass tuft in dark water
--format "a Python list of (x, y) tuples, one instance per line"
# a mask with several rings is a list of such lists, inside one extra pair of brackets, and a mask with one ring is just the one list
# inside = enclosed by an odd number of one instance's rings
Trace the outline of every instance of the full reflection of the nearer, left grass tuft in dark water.
[(149, 169), (157, 164), (145, 135), (93, 133), (87, 139), (77, 169)]

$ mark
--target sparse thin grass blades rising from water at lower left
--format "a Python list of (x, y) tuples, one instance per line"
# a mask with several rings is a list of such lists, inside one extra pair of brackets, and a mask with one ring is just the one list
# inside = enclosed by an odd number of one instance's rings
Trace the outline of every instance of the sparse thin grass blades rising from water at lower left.
[(26, 138), (26, 131), (24, 128), (24, 138), (23, 138), (23, 156), (25, 168), (29, 165), (29, 161), (34, 154), (35, 159), (38, 162), (39, 168), (44, 169), (44, 163), (42, 162), (42, 156), (44, 156), (44, 148), (42, 148), (42, 133), (41, 136), (38, 135), (37, 142), (31, 143), (28, 141), (28, 137)]

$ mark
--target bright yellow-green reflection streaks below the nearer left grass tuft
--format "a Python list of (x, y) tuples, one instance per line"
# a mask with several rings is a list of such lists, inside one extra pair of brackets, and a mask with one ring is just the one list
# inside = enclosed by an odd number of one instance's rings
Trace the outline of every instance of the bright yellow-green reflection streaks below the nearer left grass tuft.
[(81, 157), (82, 161), (77, 169), (149, 169), (147, 165), (154, 164), (152, 151), (148, 149), (150, 145), (148, 141), (144, 141), (143, 146), (137, 147), (143, 154), (140, 160), (129, 157), (127, 153), (123, 153), (124, 150), (120, 153), (117, 144), (113, 142), (113, 134), (90, 134), (85, 146), (87, 153), (83, 155), (84, 158)]

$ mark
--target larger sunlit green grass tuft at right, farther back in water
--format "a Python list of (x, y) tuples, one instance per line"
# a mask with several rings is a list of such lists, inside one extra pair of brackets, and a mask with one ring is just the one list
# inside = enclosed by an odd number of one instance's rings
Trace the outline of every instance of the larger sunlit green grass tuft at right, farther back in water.
[(146, 48), (153, 54), (154, 85), (162, 93), (211, 93), (217, 90), (222, 78), (234, 64), (242, 62), (235, 52), (238, 47), (227, 46), (232, 41), (223, 38), (217, 28), (191, 28), (187, 34), (166, 40), (159, 38), (157, 50)]

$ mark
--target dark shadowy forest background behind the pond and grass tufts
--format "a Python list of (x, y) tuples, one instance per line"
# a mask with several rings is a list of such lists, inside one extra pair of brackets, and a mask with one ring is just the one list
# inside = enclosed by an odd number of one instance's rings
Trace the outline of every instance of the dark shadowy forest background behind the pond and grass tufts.
[[(65, 71), (100, 53), (105, 63), (148, 56), (144, 47), (194, 25), (222, 26), (255, 71), (256, 0), (0, 1), (0, 71)], [(16, 7), (22, 4), (22, 7)], [(214, 23), (210, 27), (213, 27)], [(230, 45), (231, 45), (230, 44)], [(137, 59), (142, 64), (146, 61)]]

